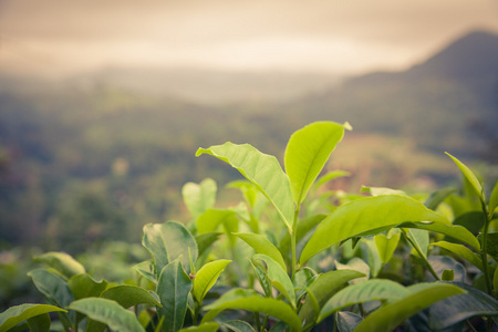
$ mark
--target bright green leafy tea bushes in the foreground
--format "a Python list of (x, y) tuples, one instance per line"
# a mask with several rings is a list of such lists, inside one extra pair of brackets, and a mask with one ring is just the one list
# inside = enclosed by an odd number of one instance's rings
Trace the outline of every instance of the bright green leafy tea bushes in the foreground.
[(193, 220), (144, 227), (152, 260), (134, 267), (133, 284), (96, 280), (62, 252), (37, 257), (48, 267), (29, 276), (46, 304), (8, 309), (0, 332), (491, 331), (498, 185), (486, 199), (474, 173), (449, 155), (467, 197), (443, 189), (422, 203), (375, 187), (363, 189), (370, 196), (320, 194), (319, 186), (346, 175), (319, 178), (345, 129), (317, 122), (297, 131), (284, 170), (248, 144), (199, 148), (197, 156), (246, 177), (229, 184), (242, 203), (215, 208), (212, 179), (186, 184)]

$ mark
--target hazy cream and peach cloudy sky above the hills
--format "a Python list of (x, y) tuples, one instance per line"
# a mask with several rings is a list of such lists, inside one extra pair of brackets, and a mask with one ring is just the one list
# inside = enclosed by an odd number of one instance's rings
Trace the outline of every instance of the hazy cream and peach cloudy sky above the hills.
[(359, 73), (403, 69), (497, 0), (0, 0), (0, 70), (146, 65)]

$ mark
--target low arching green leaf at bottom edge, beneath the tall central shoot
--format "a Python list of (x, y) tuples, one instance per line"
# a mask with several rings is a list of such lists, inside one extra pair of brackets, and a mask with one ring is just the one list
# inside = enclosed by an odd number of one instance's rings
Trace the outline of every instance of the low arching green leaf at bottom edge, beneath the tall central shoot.
[(262, 312), (288, 323), (297, 331), (301, 330), (301, 320), (289, 304), (263, 298), (252, 290), (232, 289), (206, 309), (209, 311), (204, 315), (203, 323), (211, 321), (221, 311), (231, 309)]

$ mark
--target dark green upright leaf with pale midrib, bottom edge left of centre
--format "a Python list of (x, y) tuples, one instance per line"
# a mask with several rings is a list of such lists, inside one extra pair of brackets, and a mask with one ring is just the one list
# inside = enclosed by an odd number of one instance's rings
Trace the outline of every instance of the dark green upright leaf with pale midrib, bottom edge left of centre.
[(164, 331), (176, 332), (181, 329), (191, 287), (190, 277), (184, 271), (179, 260), (164, 267), (156, 289), (163, 304), (163, 308), (157, 308), (157, 312), (165, 318)]

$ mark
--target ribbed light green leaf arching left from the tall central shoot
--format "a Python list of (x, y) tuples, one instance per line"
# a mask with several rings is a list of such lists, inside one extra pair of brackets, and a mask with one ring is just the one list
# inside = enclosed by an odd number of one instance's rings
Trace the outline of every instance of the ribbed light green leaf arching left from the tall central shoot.
[(274, 156), (260, 153), (249, 144), (230, 142), (209, 148), (199, 148), (196, 156), (212, 155), (237, 168), (271, 201), (283, 224), (292, 230), (294, 205), (288, 176)]

